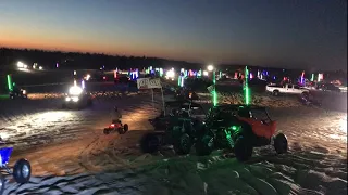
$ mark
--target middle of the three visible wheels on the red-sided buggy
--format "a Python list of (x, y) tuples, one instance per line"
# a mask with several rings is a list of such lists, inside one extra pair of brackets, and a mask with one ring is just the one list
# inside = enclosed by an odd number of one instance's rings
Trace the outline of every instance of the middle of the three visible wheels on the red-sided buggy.
[(252, 145), (243, 135), (237, 138), (234, 151), (239, 161), (246, 161), (252, 156)]

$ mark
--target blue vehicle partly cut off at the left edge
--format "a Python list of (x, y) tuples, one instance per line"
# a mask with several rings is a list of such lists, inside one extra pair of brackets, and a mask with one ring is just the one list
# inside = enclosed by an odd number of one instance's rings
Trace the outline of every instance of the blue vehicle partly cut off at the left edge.
[(26, 183), (29, 181), (32, 176), (32, 167), (27, 159), (21, 158), (18, 159), (13, 167), (13, 170), (10, 169), (8, 162), (10, 160), (10, 156), (13, 147), (2, 147), (0, 148), (0, 195), (3, 194), (4, 191), (4, 178), (3, 172), (8, 174), (12, 174), (14, 180), (17, 183)]

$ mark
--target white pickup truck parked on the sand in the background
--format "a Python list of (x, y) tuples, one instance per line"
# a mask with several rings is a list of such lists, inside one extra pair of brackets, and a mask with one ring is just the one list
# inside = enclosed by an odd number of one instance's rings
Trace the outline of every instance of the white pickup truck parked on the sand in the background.
[(304, 89), (304, 88), (299, 87), (297, 84), (290, 84), (290, 83), (287, 83), (285, 86), (269, 84), (269, 86), (265, 87), (265, 90), (271, 92), (275, 96), (279, 95), (281, 93), (286, 93), (286, 94), (306, 94), (306, 93), (309, 93), (308, 89)]

